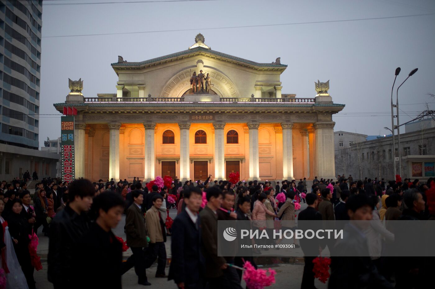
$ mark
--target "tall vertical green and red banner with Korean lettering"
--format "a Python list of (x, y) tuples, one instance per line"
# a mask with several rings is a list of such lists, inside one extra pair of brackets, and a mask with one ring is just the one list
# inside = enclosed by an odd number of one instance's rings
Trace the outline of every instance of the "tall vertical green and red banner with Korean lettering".
[(62, 145), (62, 180), (74, 181), (74, 116), (62, 116), (60, 120)]

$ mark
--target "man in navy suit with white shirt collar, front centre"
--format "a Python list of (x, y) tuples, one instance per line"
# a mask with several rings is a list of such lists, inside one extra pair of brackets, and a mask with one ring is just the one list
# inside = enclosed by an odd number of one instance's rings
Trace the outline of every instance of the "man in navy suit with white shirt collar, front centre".
[(172, 224), (172, 261), (169, 267), (169, 280), (174, 280), (178, 288), (202, 289), (204, 276), (204, 256), (201, 252), (201, 228), (199, 209), (202, 203), (200, 190), (187, 190), (184, 194), (185, 210)]

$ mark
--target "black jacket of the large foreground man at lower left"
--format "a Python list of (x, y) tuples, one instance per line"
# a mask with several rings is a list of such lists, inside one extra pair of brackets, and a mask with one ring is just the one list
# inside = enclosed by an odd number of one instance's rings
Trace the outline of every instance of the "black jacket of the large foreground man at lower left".
[(76, 254), (76, 266), (80, 267), (77, 288), (122, 288), (122, 244), (112, 231), (106, 232), (93, 223), (80, 238)]

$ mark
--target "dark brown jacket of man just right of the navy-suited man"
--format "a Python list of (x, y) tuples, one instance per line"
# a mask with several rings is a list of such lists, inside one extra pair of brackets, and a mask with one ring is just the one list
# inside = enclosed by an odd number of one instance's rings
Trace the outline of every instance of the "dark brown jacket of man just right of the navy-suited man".
[(218, 256), (218, 215), (209, 207), (199, 213), (201, 217), (202, 253), (205, 258), (206, 278), (215, 278), (223, 275), (221, 266), (226, 263), (224, 257)]

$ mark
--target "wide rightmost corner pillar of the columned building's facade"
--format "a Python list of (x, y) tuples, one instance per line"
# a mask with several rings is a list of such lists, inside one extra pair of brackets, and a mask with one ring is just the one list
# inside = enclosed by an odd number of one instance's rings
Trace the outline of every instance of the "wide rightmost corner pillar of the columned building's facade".
[(335, 122), (316, 122), (316, 156), (318, 177), (329, 178), (335, 175), (334, 158)]

